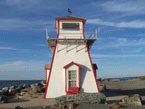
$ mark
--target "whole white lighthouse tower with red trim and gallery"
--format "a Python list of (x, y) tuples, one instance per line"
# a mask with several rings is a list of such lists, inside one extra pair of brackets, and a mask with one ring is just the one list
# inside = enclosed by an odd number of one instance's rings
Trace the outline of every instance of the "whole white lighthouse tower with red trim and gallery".
[(53, 56), (51, 64), (45, 66), (44, 98), (100, 93), (96, 79), (97, 67), (92, 63), (89, 53), (96, 38), (85, 38), (85, 22), (86, 19), (74, 16), (56, 18), (57, 37), (47, 37)]

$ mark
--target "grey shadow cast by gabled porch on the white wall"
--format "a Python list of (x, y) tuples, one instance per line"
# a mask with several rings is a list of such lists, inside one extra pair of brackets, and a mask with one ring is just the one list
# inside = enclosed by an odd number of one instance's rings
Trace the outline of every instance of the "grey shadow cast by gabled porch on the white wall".
[(84, 81), (85, 81), (85, 78), (86, 78), (86, 74), (87, 74), (88, 71), (91, 71), (91, 70), (88, 67), (84, 66), (84, 65), (81, 65), (81, 66), (82, 66), (82, 68), (80, 70), (80, 88), (81, 88), (80, 91), (83, 93), (84, 89), (82, 88), (82, 86), (84, 84)]

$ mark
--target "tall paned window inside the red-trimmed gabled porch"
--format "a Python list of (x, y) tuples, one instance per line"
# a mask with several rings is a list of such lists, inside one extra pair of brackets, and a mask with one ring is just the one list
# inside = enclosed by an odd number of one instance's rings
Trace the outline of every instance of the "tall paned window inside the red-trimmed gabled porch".
[(76, 70), (68, 71), (68, 86), (76, 87)]

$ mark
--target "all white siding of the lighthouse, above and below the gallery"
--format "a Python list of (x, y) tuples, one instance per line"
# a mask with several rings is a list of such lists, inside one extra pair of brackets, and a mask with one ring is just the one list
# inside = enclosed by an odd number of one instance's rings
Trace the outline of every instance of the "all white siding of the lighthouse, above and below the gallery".
[[(62, 23), (79, 23), (79, 31), (62, 30)], [(83, 23), (81, 21), (61, 21), (59, 38), (67, 39), (83, 39)], [(89, 59), (86, 44), (61, 44), (58, 42), (52, 65), (50, 80), (46, 93), (46, 98), (55, 98), (66, 95), (65, 92), (65, 69), (63, 68), (70, 62), (81, 65), (80, 70), (80, 87), (81, 93), (97, 93), (96, 80), (94, 78), (93, 69)]]

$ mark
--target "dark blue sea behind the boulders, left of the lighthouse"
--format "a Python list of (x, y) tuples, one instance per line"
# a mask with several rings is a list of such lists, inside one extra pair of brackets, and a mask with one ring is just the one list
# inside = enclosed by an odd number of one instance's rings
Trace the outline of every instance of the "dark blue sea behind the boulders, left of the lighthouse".
[(0, 80), (0, 90), (3, 87), (24, 85), (24, 83), (35, 84), (35, 83), (40, 83), (41, 81), (42, 80)]

